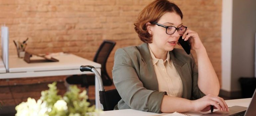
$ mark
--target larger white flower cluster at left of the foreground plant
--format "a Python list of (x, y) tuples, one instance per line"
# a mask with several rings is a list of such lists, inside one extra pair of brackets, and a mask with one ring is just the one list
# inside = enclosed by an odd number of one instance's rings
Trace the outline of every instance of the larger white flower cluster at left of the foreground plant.
[(48, 116), (46, 103), (42, 103), (41, 99), (36, 102), (29, 97), (27, 102), (22, 102), (15, 109), (17, 110), (15, 116)]

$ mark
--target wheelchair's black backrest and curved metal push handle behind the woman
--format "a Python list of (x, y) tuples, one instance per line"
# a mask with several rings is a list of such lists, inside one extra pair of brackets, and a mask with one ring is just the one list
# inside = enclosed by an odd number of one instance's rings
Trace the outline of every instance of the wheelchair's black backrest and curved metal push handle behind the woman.
[(115, 105), (120, 101), (121, 96), (116, 89), (105, 91), (101, 76), (93, 66), (80, 66), (80, 71), (90, 71), (95, 74), (99, 83), (99, 100), (104, 111), (113, 110)]

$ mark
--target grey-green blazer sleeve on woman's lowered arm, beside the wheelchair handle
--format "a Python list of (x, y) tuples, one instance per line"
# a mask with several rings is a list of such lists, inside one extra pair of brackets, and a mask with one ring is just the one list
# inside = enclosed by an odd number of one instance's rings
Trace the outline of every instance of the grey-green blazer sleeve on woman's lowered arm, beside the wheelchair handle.
[(132, 109), (162, 113), (160, 106), (166, 92), (143, 87), (133, 64), (137, 59), (132, 60), (123, 48), (116, 51), (114, 59), (113, 82), (122, 100)]

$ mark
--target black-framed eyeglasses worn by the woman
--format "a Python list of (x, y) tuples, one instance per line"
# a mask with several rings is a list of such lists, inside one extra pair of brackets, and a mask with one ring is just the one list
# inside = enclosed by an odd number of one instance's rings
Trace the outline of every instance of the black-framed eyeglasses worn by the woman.
[(180, 35), (182, 35), (187, 30), (187, 27), (184, 27), (184, 26), (176, 28), (176, 27), (173, 27), (173, 26), (164, 26), (164, 25), (158, 24), (156, 22), (151, 22), (151, 24), (156, 24), (157, 26), (166, 28), (166, 34), (173, 34), (173, 33), (175, 33), (176, 30), (178, 30), (178, 33)]

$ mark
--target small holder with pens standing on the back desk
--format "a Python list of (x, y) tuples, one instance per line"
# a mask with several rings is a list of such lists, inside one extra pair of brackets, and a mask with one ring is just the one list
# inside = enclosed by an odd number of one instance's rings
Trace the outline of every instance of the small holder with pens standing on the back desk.
[(29, 38), (24, 40), (23, 42), (13, 40), (16, 48), (17, 48), (17, 53), (19, 58), (23, 58), (25, 56), (25, 48), (27, 46), (27, 41)]

